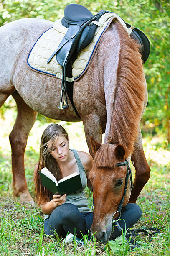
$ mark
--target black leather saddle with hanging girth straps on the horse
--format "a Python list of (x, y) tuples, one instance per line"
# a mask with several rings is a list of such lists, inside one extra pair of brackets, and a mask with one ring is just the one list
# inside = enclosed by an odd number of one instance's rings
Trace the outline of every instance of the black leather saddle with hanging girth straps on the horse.
[[(48, 59), (47, 63), (51, 61), (54, 55), (56, 55), (56, 60), (58, 64), (62, 67), (62, 86), (61, 86), (61, 100), (59, 109), (67, 108), (67, 95), (71, 101), (71, 104), (79, 116), (73, 102), (73, 83), (67, 81), (67, 77), (71, 78), (72, 63), (76, 60), (81, 49), (88, 46), (96, 32), (98, 26), (100, 26), (99, 18), (109, 11), (101, 10), (96, 15), (92, 13), (84, 6), (79, 4), (69, 4), (64, 9), (64, 17), (61, 20), (63, 26), (68, 28), (65, 36), (63, 37), (61, 43), (59, 44), (56, 51)], [(147, 60), (150, 53), (150, 43), (145, 36), (145, 34), (139, 29), (126, 23), (126, 26), (131, 29), (131, 36), (134, 38), (141, 46), (141, 54), (143, 62)], [(71, 84), (72, 83), (72, 84)], [(63, 106), (62, 106), (62, 99)], [(80, 116), (79, 116), (80, 117)]]

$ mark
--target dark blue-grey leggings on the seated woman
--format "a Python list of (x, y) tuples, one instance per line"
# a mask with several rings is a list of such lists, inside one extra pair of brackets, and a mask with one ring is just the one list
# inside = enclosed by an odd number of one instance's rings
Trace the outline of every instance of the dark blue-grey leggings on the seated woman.
[[(127, 204), (122, 207), (121, 219), (119, 220), (119, 225), (125, 230), (132, 228), (132, 226), (141, 218), (142, 212), (139, 205)], [(125, 222), (124, 222), (125, 220)], [(63, 238), (66, 237), (67, 233), (75, 233), (78, 238), (82, 238), (82, 235), (86, 235), (90, 230), (93, 223), (93, 213), (92, 212), (79, 212), (78, 208), (71, 204), (65, 203), (56, 207), (51, 215), (44, 220), (44, 230), (46, 235), (53, 235), (54, 231)], [(69, 231), (69, 232), (68, 232)], [(120, 236), (122, 233), (115, 226), (114, 232), (110, 239), (114, 239)], [(89, 231), (89, 237), (91, 233)]]

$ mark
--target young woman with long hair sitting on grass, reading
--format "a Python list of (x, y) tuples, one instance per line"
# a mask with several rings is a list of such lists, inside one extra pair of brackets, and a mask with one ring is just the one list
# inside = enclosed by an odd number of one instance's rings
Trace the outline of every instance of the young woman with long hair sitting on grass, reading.
[[(69, 136), (58, 124), (49, 125), (41, 137), (40, 157), (34, 169), (36, 201), (45, 214), (44, 230), (47, 235), (55, 232), (62, 236), (64, 242), (71, 241), (74, 234), (76, 243), (83, 244), (82, 235), (90, 238), (93, 213), (88, 207), (84, 189), (86, 185), (92, 190), (89, 172), (93, 158), (86, 152), (69, 149)], [(74, 172), (80, 174), (82, 189), (71, 195), (53, 195), (41, 183), (38, 170), (46, 167), (58, 180)], [(128, 204), (122, 208), (126, 228), (131, 228), (141, 217), (138, 205)], [(120, 225), (125, 228), (124, 220)], [(66, 236), (68, 234), (68, 236)], [(112, 239), (121, 235), (116, 227)]]

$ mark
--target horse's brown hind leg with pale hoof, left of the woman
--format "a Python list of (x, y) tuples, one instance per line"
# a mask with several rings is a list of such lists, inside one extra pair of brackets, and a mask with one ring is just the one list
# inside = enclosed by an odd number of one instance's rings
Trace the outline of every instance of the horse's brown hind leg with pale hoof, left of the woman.
[(24, 152), (37, 112), (26, 105), (18, 92), (15, 91), (12, 95), (18, 110), (15, 125), (9, 136), (12, 151), (13, 194), (19, 196), (21, 202), (33, 202), (25, 179)]

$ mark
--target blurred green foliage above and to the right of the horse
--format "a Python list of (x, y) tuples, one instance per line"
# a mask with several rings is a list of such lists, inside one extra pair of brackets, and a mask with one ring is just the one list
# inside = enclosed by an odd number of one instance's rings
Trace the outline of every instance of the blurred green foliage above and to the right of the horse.
[[(142, 118), (142, 131), (162, 133), (170, 141), (170, 2), (168, 0), (4, 0), (0, 1), (0, 26), (20, 18), (55, 21), (69, 3), (86, 6), (93, 14), (114, 11), (149, 38), (151, 52), (144, 64), (149, 101)], [(2, 111), (5, 111), (3, 108)], [(3, 114), (3, 113), (2, 113)], [(42, 122), (46, 122), (46, 119)]]

